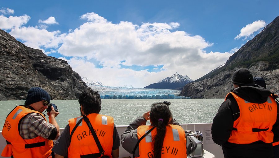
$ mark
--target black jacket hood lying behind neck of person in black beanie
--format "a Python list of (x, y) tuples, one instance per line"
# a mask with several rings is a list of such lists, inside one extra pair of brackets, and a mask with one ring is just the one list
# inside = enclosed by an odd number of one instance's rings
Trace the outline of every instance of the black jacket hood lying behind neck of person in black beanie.
[(241, 86), (235, 88), (232, 92), (250, 103), (264, 103), (267, 101), (268, 96), (272, 94), (269, 90), (263, 89), (256, 84)]

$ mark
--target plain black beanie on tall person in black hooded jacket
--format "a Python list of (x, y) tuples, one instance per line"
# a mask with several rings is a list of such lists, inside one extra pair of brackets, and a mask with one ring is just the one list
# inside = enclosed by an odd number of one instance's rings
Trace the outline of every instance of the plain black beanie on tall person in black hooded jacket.
[(232, 83), (238, 86), (254, 83), (252, 73), (246, 68), (240, 68), (232, 74)]

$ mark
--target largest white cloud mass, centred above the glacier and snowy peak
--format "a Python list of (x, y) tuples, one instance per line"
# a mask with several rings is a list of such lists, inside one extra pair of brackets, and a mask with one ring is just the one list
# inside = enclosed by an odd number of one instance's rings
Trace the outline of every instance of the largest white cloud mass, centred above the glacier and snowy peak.
[[(92, 72), (92, 79), (108, 86), (144, 87), (175, 72), (195, 80), (224, 64), (232, 55), (228, 52), (206, 53), (203, 49), (212, 43), (203, 37), (170, 31), (177, 29), (178, 23), (135, 25), (122, 21), (113, 24), (95, 13), (86, 13), (82, 18), (88, 22), (68, 33), (58, 51), (65, 56), (78, 57), (69, 63), (82, 77), (90, 77), (89, 72)], [(100, 61), (103, 68), (96, 68), (85, 58)], [(119, 64), (164, 66), (161, 72), (148, 72), (120, 68)]]

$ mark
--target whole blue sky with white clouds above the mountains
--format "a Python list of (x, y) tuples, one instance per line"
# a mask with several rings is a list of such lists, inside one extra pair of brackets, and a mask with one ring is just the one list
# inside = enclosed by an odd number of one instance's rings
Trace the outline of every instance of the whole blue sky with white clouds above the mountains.
[(2, 1), (0, 29), (81, 77), (142, 88), (196, 80), (279, 15), (278, 0)]

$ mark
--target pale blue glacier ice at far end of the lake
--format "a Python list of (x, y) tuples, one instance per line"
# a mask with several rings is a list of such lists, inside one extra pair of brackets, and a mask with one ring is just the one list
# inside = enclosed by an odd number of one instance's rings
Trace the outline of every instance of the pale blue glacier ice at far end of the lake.
[(87, 86), (99, 91), (101, 99), (190, 99), (189, 97), (178, 96), (180, 90), (125, 88), (90, 84)]

